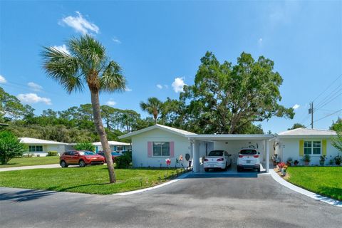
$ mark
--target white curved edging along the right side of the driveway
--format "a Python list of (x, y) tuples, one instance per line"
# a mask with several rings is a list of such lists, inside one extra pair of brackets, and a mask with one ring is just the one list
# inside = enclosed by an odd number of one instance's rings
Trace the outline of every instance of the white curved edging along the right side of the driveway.
[(310, 192), (308, 190), (304, 190), (303, 188), (298, 187), (296, 185), (292, 185), (290, 182), (287, 182), (283, 178), (279, 177), (279, 175), (274, 170), (270, 169), (269, 173), (271, 174), (271, 176), (273, 177), (273, 179), (276, 182), (279, 182), (279, 184), (284, 185), (285, 187), (289, 188), (290, 190), (294, 190), (295, 192), (299, 192), (303, 195), (306, 195), (307, 197), (311, 197), (312, 199), (316, 199), (316, 200), (319, 200), (321, 202), (325, 202), (327, 204), (331, 204), (331, 205), (336, 206), (336, 207), (342, 207), (342, 202), (339, 200), (331, 199), (329, 197), (324, 197), (324, 196), (319, 195), (317, 193)]

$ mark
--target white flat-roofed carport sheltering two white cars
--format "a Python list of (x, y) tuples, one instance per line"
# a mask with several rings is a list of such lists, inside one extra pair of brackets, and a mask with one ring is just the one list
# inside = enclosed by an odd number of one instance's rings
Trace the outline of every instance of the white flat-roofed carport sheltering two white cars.
[(274, 135), (189, 135), (194, 172), (201, 171), (201, 158), (211, 150), (227, 150), (236, 165), (239, 150), (254, 147), (260, 152), (261, 165), (269, 172), (270, 154), (274, 154)]

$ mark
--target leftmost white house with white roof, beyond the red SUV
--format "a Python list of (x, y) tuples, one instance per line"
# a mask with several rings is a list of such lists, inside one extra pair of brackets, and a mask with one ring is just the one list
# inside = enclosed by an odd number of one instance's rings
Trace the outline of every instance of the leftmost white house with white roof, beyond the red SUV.
[(27, 151), (24, 155), (33, 154), (34, 156), (45, 157), (48, 151), (57, 151), (59, 154), (64, 152), (67, 145), (64, 142), (55, 142), (50, 140), (40, 140), (38, 138), (19, 138), (20, 142), (27, 145)]

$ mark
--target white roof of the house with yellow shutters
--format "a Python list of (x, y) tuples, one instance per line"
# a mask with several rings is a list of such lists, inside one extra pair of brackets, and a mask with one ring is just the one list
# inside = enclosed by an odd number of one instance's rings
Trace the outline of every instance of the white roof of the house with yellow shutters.
[(331, 137), (336, 136), (334, 130), (321, 130), (311, 128), (296, 128), (293, 130), (286, 130), (278, 134), (279, 138), (296, 138), (299, 136), (306, 137)]

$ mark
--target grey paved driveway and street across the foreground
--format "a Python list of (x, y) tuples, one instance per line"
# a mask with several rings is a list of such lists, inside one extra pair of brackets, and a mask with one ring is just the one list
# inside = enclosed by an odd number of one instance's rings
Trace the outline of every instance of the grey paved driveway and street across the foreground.
[(135, 195), (0, 188), (1, 227), (341, 227), (342, 209), (269, 175), (188, 177)]

